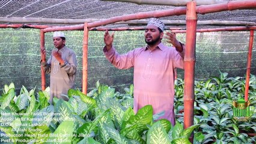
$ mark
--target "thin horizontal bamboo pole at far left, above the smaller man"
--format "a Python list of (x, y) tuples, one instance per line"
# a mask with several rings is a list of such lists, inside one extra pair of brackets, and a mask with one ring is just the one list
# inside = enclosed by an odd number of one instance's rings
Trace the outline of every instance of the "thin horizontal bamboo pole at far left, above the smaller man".
[(54, 27), (54, 26), (29, 25), (29, 24), (15, 24), (15, 25), (0, 24), (0, 28), (35, 28), (35, 29), (44, 29), (44, 28), (50, 28), (50, 27)]

